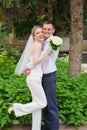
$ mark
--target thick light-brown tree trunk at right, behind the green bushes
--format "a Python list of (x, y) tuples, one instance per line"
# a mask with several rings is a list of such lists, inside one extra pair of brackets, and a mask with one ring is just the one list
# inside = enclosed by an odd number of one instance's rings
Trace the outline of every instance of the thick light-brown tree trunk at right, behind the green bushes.
[(83, 41), (83, 2), (71, 0), (71, 38), (69, 52), (69, 74), (78, 76), (81, 71)]

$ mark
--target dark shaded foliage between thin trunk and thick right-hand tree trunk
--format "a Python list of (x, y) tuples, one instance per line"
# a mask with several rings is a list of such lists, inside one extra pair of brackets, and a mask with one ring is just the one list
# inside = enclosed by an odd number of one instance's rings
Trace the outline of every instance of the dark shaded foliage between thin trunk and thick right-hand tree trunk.
[(53, 4), (53, 20), (56, 26), (56, 34), (66, 37), (70, 34), (70, 0), (59, 0)]

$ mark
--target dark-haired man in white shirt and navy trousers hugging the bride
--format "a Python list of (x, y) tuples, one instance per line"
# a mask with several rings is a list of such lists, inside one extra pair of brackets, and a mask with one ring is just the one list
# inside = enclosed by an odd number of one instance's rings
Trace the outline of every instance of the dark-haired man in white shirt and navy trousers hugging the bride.
[[(43, 23), (43, 33), (45, 42), (43, 45), (44, 52), (49, 48), (50, 37), (55, 32), (55, 26), (52, 21), (45, 21)], [(58, 116), (58, 104), (56, 96), (56, 59), (58, 57), (59, 50), (53, 52), (43, 63), (43, 78), (42, 85), (47, 98), (47, 106), (43, 109), (44, 123), (45, 125), (41, 130), (59, 130), (59, 116)], [(28, 71), (24, 72), (27, 74)]]

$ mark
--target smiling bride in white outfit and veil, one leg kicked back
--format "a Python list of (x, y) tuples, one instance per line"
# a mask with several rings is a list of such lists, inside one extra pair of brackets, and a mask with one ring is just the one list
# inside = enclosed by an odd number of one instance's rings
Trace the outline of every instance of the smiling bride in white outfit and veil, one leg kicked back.
[(15, 70), (15, 73), (20, 75), (23, 73), (29, 60), (33, 63), (34, 68), (26, 78), (27, 85), (31, 91), (32, 102), (27, 104), (13, 103), (13, 106), (9, 108), (8, 112), (11, 113), (14, 111), (16, 117), (32, 113), (32, 130), (40, 130), (41, 110), (47, 105), (46, 96), (41, 83), (43, 74), (41, 62), (52, 53), (52, 50), (48, 49), (44, 54), (41, 54), (42, 43), (44, 42), (42, 27), (34, 26), (32, 36), (29, 38)]

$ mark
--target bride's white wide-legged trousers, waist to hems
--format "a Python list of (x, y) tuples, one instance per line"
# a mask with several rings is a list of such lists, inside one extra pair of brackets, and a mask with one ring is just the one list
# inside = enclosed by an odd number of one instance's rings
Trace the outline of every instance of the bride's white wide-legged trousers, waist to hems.
[(41, 129), (41, 110), (47, 105), (46, 96), (42, 87), (41, 64), (31, 70), (26, 78), (27, 85), (31, 91), (32, 102), (27, 104), (14, 103), (16, 117), (32, 113), (32, 130)]

